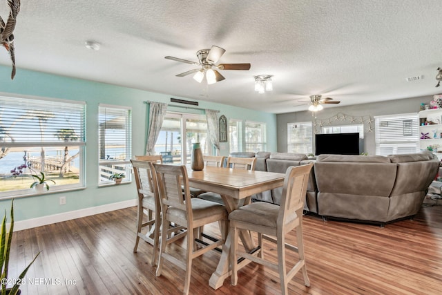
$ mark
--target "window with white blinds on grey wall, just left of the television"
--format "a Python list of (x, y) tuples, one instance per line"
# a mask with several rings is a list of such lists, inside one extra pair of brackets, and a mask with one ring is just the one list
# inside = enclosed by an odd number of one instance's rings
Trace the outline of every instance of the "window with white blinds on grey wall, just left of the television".
[(311, 122), (287, 124), (287, 152), (289, 153), (313, 153), (311, 144), (313, 130)]

